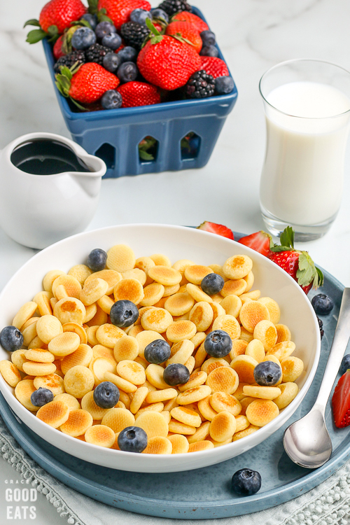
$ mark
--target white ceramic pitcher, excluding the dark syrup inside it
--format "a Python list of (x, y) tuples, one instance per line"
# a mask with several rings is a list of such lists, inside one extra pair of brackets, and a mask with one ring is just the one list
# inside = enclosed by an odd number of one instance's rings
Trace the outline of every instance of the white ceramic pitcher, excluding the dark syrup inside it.
[[(85, 171), (32, 174), (15, 166), (11, 155), (31, 141), (55, 141), (68, 146)], [(15, 153), (18, 155), (18, 153)], [(41, 159), (39, 159), (41, 160)], [(103, 160), (88, 155), (75, 142), (52, 133), (30, 133), (0, 152), (0, 226), (30, 248), (45, 248), (83, 231), (97, 208)]]

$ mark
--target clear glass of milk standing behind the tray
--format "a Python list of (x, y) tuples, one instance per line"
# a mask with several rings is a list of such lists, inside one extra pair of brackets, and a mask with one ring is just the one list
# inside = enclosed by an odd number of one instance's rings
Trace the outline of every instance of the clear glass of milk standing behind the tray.
[(273, 235), (290, 225), (295, 240), (318, 239), (342, 198), (350, 72), (321, 60), (288, 60), (269, 69), (259, 87), (267, 125), (262, 218)]

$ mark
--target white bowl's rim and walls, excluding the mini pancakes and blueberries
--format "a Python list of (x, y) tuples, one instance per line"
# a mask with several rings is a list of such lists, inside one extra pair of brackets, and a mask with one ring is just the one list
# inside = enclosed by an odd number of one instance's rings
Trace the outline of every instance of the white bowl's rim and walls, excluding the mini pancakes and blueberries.
[[(172, 262), (190, 259), (197, 264), (223, 264), (231, 255), (243, 253), (253, 260), (254, 289), (262, 296), (276, 300), (281, 307), (281, 323), (292, 332), (296, 344), (293, 355), (304, 361), (304, 372), (297, 379), (300, 392), (293, 402), (273, 421), (241, 440), (193, 454), (134, 454), (106, 449), (70, 437), (51, 428), (31, 414), (13, 395), (11, 388), (0, 376), (0, 391), (22, 421), (44, 440), (58, 449), (90, 463), (132, 472), (177, 472), (192, 470), (225, 461), (255, 447), (280, 428), (295, 412), (309, 390), (318, 365), (320, 337), (316, 315), (300, 286), (283, 269), (265, 256), (225, 237), (172, 225), (132, 224), (113, 226), (81, 233), (59, 241), (34, 255), (18, 270), (0, 295), (0, 329), (9, 325), (18, 309), (42, 289), (43, 276), (50, 269), (68, 272), (73, 265), (86, 261), (93, 248), (108, 250), (114, 244), (131, 246), (137, 257), (165, 253)], [(0, 360), (9, 354), (0, 347)]]

